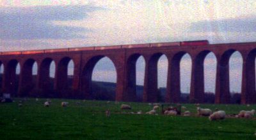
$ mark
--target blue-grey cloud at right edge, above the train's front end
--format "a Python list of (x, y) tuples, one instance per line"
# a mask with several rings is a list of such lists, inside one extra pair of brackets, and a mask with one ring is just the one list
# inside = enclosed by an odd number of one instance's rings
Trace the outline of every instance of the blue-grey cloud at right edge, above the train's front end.
[(189, 27), (190, 32), (256, 32), (256, 16), (229, 18), (223, 20), (204, 20)]

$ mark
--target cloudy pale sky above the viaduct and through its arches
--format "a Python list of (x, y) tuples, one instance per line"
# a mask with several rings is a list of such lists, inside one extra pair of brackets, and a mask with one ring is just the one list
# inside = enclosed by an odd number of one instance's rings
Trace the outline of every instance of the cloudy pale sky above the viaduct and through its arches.
[[(198, 39), (235, 43), (256, 41), (255, 36), (255, 0), (0, 0), (0, 51)], [(234, 92), (241, 90), (241, 62), (239, 52), (234, 53), (230, 59), (230, 90)], [(143, 65), (140, 58), (139, 85), (143, 84)], [(189, 92), (189, 55), (180, 66), (181, 90)], [(159, 87), (164, 87), (164, 56), (158, 67)], [(214, 92), (215, 74), (216, 59), (209, 54), (205, 59), (206, 91)], [(93, 71), (93, 80), (115, 81), (115, 76), (109, 59), (100, 60)]]

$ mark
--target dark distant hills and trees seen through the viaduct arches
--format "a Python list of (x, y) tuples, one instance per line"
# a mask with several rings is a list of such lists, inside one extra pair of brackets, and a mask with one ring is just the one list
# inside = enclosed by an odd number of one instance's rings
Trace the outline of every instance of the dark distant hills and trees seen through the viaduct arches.
[[(3, 80), (3, 74), (0, 74), (0, 88), (2, 87), (2, 80)], [(36, 76), (33, 76), (33, 85), (31, 87), (35, 87), (35, 81)], [(19, 76), (16, 77), (15, 85), (17, 85), (15, 88), (18, 89), (18, 83), (19, 83)], [(51, 78), (51, 85), (52, 90), (49, 91), (49, 97), (54, 97), (54, 94), (56, 94), (53, 90), (54, 85), (54, 78)], [(71, 92), (72, 88), (72, 76), (68, 76), (68, 89), (67, 92)], [(106, 82), (106, 81), (92, 81), (92, 87), (91, 87), (91, 95), (92, 99), (96, 100), (115, 100), (115, 90), (116, 90), (116, 83)], [(44, 93), (40, 93), (42, 91), (36, 90), (35, 88), (33, 90), (30, 90), (28, 95), (36, 95), (38, 97), (43, 96)], [(52, 95), (51, 95), (52, 94)], [(66, 93), (68, 94), (68, 93)], [(158, 102), (164, 102), (164, 98), (166, 95), (166, 88), (159, 88), (158, 93), (159, 96), (157, 97)], [(136, 96), (137, 99), (135, 101), (141, 102), (143, 97), (143, 86), (137, 85), (136, 86)], [(204, 96), (204, 102), (213, 104), (214, 103), (215, 95), (212, 92), (206, 92)], [(189, 100), (189, 94), (188, 93), (182, 93), (180, 95), (180, 102), (187, 103), (187, 102), (196, 102), (196, 101), (190, 101)], [(240, 104), (241, 102), (241, 94), (232, 92), (231, 93), (231, 99), (230, 102), (232, 104)]]

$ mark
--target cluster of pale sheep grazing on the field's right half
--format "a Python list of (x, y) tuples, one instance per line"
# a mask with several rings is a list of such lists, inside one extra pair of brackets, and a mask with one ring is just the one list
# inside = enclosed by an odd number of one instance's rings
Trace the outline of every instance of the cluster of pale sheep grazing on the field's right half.
[[(200, 104), (195, 104), (195, 105), (198, 106), (196, 108), (198, 116), (208, 116), (209, 120), (211, 120), (211, 121), (212, 120), (223, 120), (226, 118), (226, 113), (223, 110), (216, 109), (216, 111), (214, 111), (212, 113), (212, 110), (209, 108), (200, 108), (199, 107)], [(131, 106), (129, 106), (128, 104), (122, 104), (121, 109), (131, 109)], [(159, 104), (154, 104), (153, 109), (148, 111), (145, 114), (157, 115), (157, 109), (159, 109)], [(182, 106), (182, 109), (186, 109), (186, 107)], [(163, 109), (162, 113), (164, 115), (172, 115), (172, 116), (181, 115), (180, 110), (177, 108), (173, 108), (172, 106), (170, 106), (169, 108)], [(142, 113), (141, 113), (141, 111), (138, 111), (137, 114), (142, 114)], [(254, 114), (255, 114), (254, 109), (252, 109), (251, 111), (241, 110), (237, 115), (235, 115), (235, 118), (252, 118)], [(182, 115), (183, 116), (191, 116), (191, 113), (190, 113), (190, 111), (184, 111), (184, 113)]]

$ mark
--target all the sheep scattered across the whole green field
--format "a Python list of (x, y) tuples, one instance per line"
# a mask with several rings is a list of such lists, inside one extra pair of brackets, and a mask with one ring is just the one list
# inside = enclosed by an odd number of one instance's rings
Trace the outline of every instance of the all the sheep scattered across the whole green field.
[[(36, 99), (38, 101), (38, 99)], [(79, 104), (80, 102), (76, 102), (76, 104)], [(107, 102), (109, 103), (109, 101)], [(18, 104), (19, 106), (22, 106), (22, 103), (20, 102)], [(51, 105), (51, 100), (47, 99), (47, 101), (44, 102), (45, 107), (49, 107)], [(160, 104), (151, 104), (149, 103), (148, 105), (153, 105), (152, 110), (146, 112), (145, 114), (148, 115), (157, 115), (157, 110), (160, 108)], [(61, 102), (62, 107), (67, 107), (68, 102)], [(208, 116), (209, 120), (223, 120), (226, 118), (226, 113), (223, 110), (218, 110), (214, 111), (212, 113), (212, 110), (209, 108), (200, 108), (200, 104), (195, 104), (197, 106), (196, 111), (197, 111), (197, 116)], [(122, 104), (121, 109), (132, 109), (131, 106), (128, 104)], [(181, 109), (186, 109), (185, 106), (182, 106)], [(171, 116), (176, 116), (176, 115), (183, 115), (183, 116), (191, 116), (190, 111), (184, 111), (184, 113), (181, 113), (180, 109), (177, 109), (175, 107), (168, 107), (166, 109), (163, 109), (162, 106), (162, 113), (164, 115), (171, 115)], [(131, 114), (134, 114), (134, 112), (131, 112)], [(143, 114), (142, 111), (136, 112), (136, 114)], [(255, 114), (255, 110), (252, 109), (251, 111), (245, 111), (241, 110), (237, 115), (234, 115), (235, 118), (253, 118), (253, 115)], [(110, 116), (110, 110), (106, 110), (106, 116)]]

